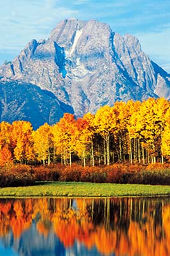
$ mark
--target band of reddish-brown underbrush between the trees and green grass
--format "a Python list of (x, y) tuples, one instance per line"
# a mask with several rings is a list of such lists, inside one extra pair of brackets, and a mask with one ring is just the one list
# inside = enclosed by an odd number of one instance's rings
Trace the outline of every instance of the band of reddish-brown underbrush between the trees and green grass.
[(35, 181), (76, 181), (119, 184), (170, 185), (170, 164), (113, 164), (87, 166), (11, 165), (0, 168), (0, 186), (28, 186)]

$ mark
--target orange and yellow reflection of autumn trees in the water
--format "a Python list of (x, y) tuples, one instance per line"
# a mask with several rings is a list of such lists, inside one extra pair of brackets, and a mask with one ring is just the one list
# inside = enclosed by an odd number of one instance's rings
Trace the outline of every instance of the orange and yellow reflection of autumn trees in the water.
[(170, 255), (170, 204), (139, 198), (39, 198), (0, 201), (0, 236), (14, 239), (31, 227), (55, 232), (64, 246), (76, 240), (101, 253)]

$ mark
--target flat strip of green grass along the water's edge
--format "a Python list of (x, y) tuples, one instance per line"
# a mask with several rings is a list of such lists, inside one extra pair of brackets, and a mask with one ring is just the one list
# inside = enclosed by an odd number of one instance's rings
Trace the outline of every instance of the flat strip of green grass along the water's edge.
[(156, 196), (170, 195), (170, 186), (97, 184), (87, 182), (37, 182), (34, 186), (0, 188), (0, 196)]

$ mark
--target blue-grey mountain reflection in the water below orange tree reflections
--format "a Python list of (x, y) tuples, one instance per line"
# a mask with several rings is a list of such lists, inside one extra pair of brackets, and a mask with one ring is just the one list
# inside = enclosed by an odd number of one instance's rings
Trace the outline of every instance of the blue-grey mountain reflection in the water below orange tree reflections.
[(18, 239), (10, 232), (1, 241), (5, 248), (13, 248), (20, 256), (92, 256), (97, 255), (96, 247), (90, 250), (76, 241), (70, 248), (64, 248), (59, 238), (51, 231), (47, 236), (39, 234), (36, 223), (32, 223)]

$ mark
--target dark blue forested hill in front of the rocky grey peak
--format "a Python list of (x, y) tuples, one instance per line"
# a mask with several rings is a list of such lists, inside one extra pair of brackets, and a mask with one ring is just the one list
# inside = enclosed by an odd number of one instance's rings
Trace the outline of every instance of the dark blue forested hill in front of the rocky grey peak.
[(33, 84), (0, 81), (0, 95), (0, 120), (27, 120), (34, 129), (45, 122), (55, 124), (65, 112), (73, 113), (73, 109), (60, 102), (52, 92)]

